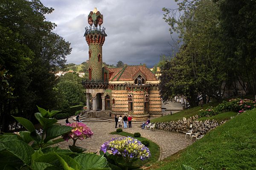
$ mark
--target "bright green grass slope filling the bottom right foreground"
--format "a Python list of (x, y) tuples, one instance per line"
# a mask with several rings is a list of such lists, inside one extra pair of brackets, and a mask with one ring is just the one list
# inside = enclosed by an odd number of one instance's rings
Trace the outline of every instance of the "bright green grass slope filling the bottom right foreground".
[(256, 109), (242, 113), (151, 168), (180, 170), (186, 164), (195, 170), (255, 170), (255, 125)]

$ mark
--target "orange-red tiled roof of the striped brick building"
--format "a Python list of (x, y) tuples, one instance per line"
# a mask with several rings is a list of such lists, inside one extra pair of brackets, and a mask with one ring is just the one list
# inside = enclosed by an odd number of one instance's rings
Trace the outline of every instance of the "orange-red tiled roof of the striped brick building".
[(157, 80), (155, 75), (144, 65), (127, 65), (124, 68), (108, 68), (108, 70), (114, 72), (111, 81), (133, 81), (133, 77), (139, 73), (142, 73), (146, 80)]

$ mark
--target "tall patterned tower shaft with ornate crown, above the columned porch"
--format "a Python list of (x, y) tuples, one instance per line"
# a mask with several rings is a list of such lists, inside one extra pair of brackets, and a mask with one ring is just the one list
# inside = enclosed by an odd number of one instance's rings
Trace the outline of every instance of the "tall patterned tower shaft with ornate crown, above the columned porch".
[[(88, 15), (88, 23), (90, 28), (85, 28), (84, 37), (89, 45), (89, 80), (95, 82), (103, 82), (102, 76), (102, 45), (104, 44), (105, 28), (101, 28), (103, 23), (103, 15), (94, 8)], [(98, 28), (99, 26), (99, 28)]]

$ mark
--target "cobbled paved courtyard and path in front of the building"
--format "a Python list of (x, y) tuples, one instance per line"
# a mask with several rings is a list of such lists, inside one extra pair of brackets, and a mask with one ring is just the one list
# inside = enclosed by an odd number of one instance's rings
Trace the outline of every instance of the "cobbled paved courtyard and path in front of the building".
[[(74, 122), (71, 118), (70, 122)], [(65, 124), (65, 119), (59, 120), (58, 123), (62, 125)], [(77, 140), (76, 145), (84, 147), (89, 152), (98, 152), (100, 146), (111, 138), (119, 137), (119, 135), (111, 135), (110, 132), (116, 131), (115, 122), (85, 122), (87, 126), (93, 131), (92, 138), (84, 139), (83, 141)], [(122, 125), (123, 127), (123, 125)], [(141, 136), (150, 139), (151, 141), (157, 143), (160, 146), (160, 159), (164, 159), (179, 150), (186, 148), (192, 142), (187, 138), (185, 139), (185, 134), (167, 132), (164, 130), (149, 131), (141, 129), (140, 124), (132, 123), (132, 128), (123, 128), (123, 131), (128, 133), (140, 132)], [(59, 143), (59, 146), (63, 149), (68, 149), (68, 145), (72, 145), (73, 140), (70, 139), (68, 142), (64, 141)]]

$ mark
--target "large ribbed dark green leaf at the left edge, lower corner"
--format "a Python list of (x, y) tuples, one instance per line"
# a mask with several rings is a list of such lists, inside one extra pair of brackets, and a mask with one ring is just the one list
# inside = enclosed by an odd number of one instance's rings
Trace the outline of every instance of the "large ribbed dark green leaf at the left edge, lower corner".
[(6, 150), (17, 156), (25, 164), (30, 164), (31, 156), (33, 153), (35, 153), (35, 151), (28, 144), (20, 140), (10, 140), (2, 142), (2, 144), (4, 145)]

